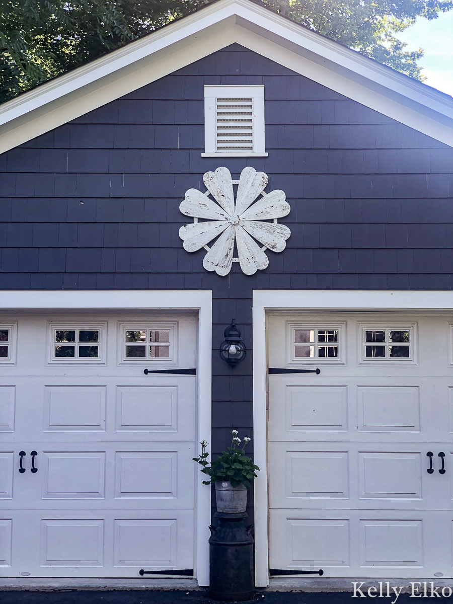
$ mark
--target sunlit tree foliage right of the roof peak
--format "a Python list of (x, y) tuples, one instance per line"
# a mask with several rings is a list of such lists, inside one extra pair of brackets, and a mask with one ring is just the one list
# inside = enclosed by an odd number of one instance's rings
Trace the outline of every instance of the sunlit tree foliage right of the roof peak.
[(452, 0), (263, 0), (292, 21), (423, 82), (417, 61), (423, 50), (406, 51), (395, 34), (417, 17), (431, 21), (453, 8)]

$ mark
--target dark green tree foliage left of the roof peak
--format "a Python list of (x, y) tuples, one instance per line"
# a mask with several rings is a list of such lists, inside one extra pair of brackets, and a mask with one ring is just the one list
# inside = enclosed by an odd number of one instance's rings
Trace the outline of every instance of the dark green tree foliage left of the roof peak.
[(121, 47), (205, 0), (0, 0), (0, 102)]

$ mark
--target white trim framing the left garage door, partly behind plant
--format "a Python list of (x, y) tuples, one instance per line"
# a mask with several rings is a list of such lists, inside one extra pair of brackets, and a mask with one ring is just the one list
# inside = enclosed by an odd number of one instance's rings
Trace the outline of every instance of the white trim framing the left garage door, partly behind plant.
[[(184, 300), (185, 306), (181, 306)], [(1, 310), (19, 309), (105, 309), (105, 310), (198, 310), (198, 433), (196, 442), (211, 441), (211, 290), (172, 291), (2, 291)], [(196, 579), (198, 585), (209, 585), (208, 524), (211, 518), (211, 489), (202, 484), (198, 472), (196, 497)]]

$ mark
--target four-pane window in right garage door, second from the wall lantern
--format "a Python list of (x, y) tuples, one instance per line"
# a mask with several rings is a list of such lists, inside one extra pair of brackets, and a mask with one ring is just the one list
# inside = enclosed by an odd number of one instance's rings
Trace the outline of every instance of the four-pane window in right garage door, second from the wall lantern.
[(361, 362), (414, 364), (414, 325), (361, 325)]

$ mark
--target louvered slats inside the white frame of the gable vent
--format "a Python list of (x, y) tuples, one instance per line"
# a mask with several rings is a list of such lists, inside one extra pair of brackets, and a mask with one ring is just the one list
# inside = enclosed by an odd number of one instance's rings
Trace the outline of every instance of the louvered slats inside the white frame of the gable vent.
[(216, 149), (253, 151), (253, 99), (216, 99)]

